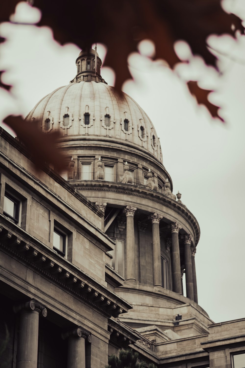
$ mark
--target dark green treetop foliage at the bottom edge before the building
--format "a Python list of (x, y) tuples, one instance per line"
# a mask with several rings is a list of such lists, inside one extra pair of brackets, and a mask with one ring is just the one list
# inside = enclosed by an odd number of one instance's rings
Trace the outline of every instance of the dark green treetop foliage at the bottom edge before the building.
[[(132, 349), (119, 350), (119, 356), (112, 354), (108, 358), (108, 365), (105, 368), (146, 368), (146, 362), (137, 362), (138, 353)], [(150, 363), (149, 368), (156, 368), (156, 365)]]

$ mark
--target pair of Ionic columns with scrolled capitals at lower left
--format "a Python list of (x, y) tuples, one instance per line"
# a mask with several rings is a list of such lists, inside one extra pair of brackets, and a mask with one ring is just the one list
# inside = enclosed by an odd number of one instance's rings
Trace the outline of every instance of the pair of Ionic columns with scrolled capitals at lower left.
[[(20, 313), (16, 368), (37, 368), (39, 315), (46, 317), (47, 309), (31, 299), (13, 310)], [(91, 334), (79, 326), (62, 333), (61, 338), (68, 340), (67, 367), (85, 368), (85, 340), (91, 342)]]

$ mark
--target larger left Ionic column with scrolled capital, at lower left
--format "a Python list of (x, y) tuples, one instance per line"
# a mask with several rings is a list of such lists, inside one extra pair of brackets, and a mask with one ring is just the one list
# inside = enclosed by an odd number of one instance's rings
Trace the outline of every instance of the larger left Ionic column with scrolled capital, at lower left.
[(47, 316), (47, 309), (35, 299), (15, 305), (15, 313), (21, 312), (16, 368), (37, 368), (39, 313)]

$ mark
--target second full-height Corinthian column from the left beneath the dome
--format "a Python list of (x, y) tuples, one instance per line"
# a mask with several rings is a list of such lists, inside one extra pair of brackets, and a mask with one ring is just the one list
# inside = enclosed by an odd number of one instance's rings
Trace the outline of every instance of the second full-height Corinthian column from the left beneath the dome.
[(159, 222), (162, 216), (154, 213), (149, 216), (152, 222), (152, 257), (153, 257), (153, 285), (162, 286), (162, 270), (161, 270), (161, 247)]

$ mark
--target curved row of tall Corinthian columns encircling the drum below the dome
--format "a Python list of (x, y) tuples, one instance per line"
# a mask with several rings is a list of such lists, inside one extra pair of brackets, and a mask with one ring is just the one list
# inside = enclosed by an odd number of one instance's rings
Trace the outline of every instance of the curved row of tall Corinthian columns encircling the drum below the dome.
[[(96, 203), (103, 205), (103, 212), (105, 211), (106, 203)], [(101, 206), (99, 206), (101, 208)], [(102, 209), (102, 208), (101, 208)], [(136, 208), (133, 206), (126, 206), (123, 212), (126, 215), (126, 280), (136, 281), (134, 254), (134, 213)], [(162, 286), (162, 270), (161, 270), (161, 246), (159, 223), (163, 216), (158, 213), (153, 213), (148, 217), (152, 222), (152, 258), (153, 258), (153, 284), (154, 286)], [(140, 231), (142, 225), (139, 224)], [(180, 246), (179, 246), (179, 231), (181, 226), (178, 223), (170, 224), (169, 228), (172, 233), (172, 268), (173, 268), (173, 291), (176, 293), (183, 293), (181, 267), (180, 267)], [(185, 280), (186, 280), (186, 294), (191, 300), (197, 302), (197, 280), (195, 270), (195, 252), (196, 248), (192, 245), (191, 235), (185, 235), (184, 238), (184, 259), (185, 259)]]

